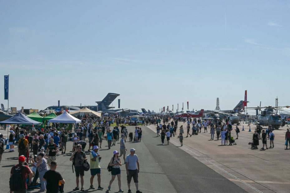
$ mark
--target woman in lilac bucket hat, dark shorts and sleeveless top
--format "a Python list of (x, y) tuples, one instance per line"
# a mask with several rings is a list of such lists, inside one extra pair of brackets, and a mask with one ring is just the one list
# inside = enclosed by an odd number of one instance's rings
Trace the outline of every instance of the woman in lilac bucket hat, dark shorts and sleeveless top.
[(109, 163), (109, 166), (112, 166), (112, 171), (111, 171), (112, 179), (109, 182), (108, 190), (111, 190), (111, 185), (112, 185), (112, 183), (115, 180), (116, 175), (117, 175), (118, 185), (119, 185), (119, 191), (118, 192), (124, 192), (121, 189), (121, 169), (120, 169), (120, 166), (122, 166), (122, 161), (118, 157), (118, 155), (119, 155), (118, 151), (115, 150), (113, 152), (113, 155), (114, 156), (113, 156), (113, 158), (111, 158), (111, 161)]

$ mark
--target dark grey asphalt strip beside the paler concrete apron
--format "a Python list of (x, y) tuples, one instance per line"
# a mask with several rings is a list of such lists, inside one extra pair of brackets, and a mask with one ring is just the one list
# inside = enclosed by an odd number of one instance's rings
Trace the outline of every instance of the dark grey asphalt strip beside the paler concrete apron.
[[(129, 132), (133, 132), (134, 127), (127, 127)], [(178, 148), (176, 145), (161, 145), (160, 137), (156, 137), (156, 133), (147, 127), (142, 127), (143, 135), (142, 142), (132, 143), (127, 142), (126, 148), (135, 148), (139, 158), (140, 173), (139, 173), (139, 189), (142, 192), (246, 192), (241, 187), (234, 184), (232, 181), (221, 176), (219, 173), (207, 167), (190, 154)], [(111, 179), (111, 173), (107, 171), (107, 166), (110, 158), (113, 157), (113, 151), (119, 151), (119, 142), (116, 146), (107, 147), (107, 141), (103, 141), (102, 148), (99, 153), (101, 160), (101, 186), (103, 191), (89, 189), (90, 172), (85, 172), (85, 192), (118, 192), (117, 178), (114, 180), (111, 189), (108, 191), (107, 186)], [(72, 149), (72, 142), (67, 143), (67, 154), (57, 157), (57, 171), (61, 173), (65, 179), (65, 192), (80, 192), (72, 191), (75, 188), (75, 173), (72, 173), (71, 161), (69, 158)], [(2, 155), (1, 180), (0, 186), (2, 191), (9, 192), (9, 176), (11, 167), (17, 164), (18, 152), (17, 148), (14, 153), (8, 153), (6, 150)], [(88, 150), (88, 148), (86, 148)], [(129, 152), (127, 151), (127, 155)], [(69, 153), (68, 153), (69, 152)], [(86, 152), (87, 157), (89, 153)], [(123, 159), (122, 159), (123, 161)], [(126, 180), (125, 165), (121, 166), (121, 181), (124, 192), (128, 191)], [(94, 178), (94, 187), (98, 186), (97, 177)], [(27, 192), (38, 192), (38, 189), (29, 189)], [(133, 180), (131, 182), (132, 192), (136, 192)]]

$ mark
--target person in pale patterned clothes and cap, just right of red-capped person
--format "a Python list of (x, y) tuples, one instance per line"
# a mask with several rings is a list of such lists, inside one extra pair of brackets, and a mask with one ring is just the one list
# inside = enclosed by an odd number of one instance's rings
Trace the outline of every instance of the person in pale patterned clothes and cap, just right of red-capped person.
[(39, 173), (39, 180), (41, 184), (41, 191), (45, 191), (46, 189), (46, 181), (43, 181), (43, 176), (45, 172), (49, 169), (47, 167), (47, 161), (44, 158), (44, 153), (38, 153), (38, 155), (34, 155), (36, 157), (36, 162), (32, 158), (30, 158), (30, 162), (32, 166), (37, 167), (37, 171)]

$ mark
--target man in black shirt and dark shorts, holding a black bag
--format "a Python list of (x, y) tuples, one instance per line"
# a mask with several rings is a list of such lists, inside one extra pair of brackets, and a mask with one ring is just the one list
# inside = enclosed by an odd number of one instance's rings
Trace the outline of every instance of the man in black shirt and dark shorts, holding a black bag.
[[(76, 177), (76, 187), (73, 189), (85, 191), (84, 189), (84, 176), (85, 176), (85, 170), (83, 168), (84, 161), (87, 160), (87, 157), (85, 155), (85, 152), (82, 151), (82, 146), (78, 144), (76, 146), (76, 151), (74, 151), (70, 157), (70, 161), (73, 161), (73, 165), (75, 166), (75, 177)], [(80, 177), (80, 180), (79, 180)], [(81, 184), (81, 189), (79, 187), (79, 182)]]

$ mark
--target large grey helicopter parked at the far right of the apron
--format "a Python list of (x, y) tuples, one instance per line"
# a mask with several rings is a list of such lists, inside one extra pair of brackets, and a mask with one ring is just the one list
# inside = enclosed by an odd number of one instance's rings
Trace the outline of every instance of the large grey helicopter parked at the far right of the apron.
[[(262, 126), (268, 126), (271, 125), (273, 129), (279, 129), (280, 126), (285, 126), (286, 122), (281, 119), (281, 115), (279, 115), (276, 110), (280, 111), (286, 111), (282, 107), (287, 107), (289, 108), (290, 106), (264, 106), (261, 107), (261, 102), (260, 106), (258, 107), (247, 107), (247, 109), (254, 109), (256, 110), (256, 115), (258, 114), (258, 111), (260, 111), (260, 114), (257, 115), (257, 120), (260, 125)], [(263, 111), (261, 109), (264, 109)]]

